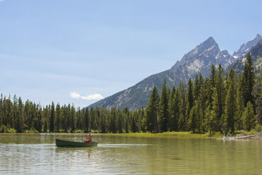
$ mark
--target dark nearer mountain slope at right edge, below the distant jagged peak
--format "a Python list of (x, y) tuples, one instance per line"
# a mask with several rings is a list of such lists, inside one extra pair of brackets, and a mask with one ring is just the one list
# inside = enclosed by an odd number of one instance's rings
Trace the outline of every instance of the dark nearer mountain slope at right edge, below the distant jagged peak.
[[(251, 58), (254, 63), (254, 68), (256, 71), (258, 71), (262, 66), (262, 40), (258, 42), (254, 47), (250, 49)], [(241, 73), (244, 68), (244, 63), (247, 60), (247, 54), (242, 57), (241, 59), (238, 59), (235, 61), (232, 65), (230, 65), (227, 68), (227, 71), (230, 68), (234, 68), (236, 73)]]

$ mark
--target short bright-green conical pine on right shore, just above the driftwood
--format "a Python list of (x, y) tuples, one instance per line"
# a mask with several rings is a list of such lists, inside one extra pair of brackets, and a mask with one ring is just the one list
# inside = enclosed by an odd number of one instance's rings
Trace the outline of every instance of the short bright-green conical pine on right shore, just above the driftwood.
[(255, 117), (254, 108), (251, 102), (247, 102), (247, 107), (245, 107), (244, 109), (242, 118), (244, 120), (244, 129), (246, 131), (251, 131), (252, 128), (255, 128), (256, 117)]

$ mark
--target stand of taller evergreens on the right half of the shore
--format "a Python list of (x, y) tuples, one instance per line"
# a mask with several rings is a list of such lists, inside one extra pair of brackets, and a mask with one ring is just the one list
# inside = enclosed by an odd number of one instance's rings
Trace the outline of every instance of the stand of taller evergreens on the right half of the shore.
[(256, 77), (251, 55), (247, 55), (243, 73), (228, 73), (219, 65), (210, 68), (208, 78), (201, 73), (172, 90), (164, 80), (161, 94), (156, 86), (145, 109), (146, 131), (192, 131), (194, 133), (261, 128), (261, 78)]

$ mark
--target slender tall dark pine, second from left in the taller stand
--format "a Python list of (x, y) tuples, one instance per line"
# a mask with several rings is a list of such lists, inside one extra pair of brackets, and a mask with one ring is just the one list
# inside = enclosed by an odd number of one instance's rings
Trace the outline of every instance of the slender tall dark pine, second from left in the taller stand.
[(168, 131), (168, 91), (166, 79), (163, 82), (161, 95), (158, 102), (158, 129), (159, 132)]

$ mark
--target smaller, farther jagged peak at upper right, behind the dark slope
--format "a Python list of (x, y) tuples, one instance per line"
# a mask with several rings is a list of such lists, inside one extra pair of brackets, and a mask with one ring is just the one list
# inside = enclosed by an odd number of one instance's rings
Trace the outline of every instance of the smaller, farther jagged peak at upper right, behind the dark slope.
[(261, 35), (257, 34), (253, 40), (250, 40), (246, 44), (242, 44), (242, 46), (237, 50), (237, 52), (234, 52), (232, 56), (235, 59), (241, 59), (243, 56), (246, 56), (251, 48), (254, 47), (254, 45), (256, 45), (260, 40), (262, 40), (262, 37)]

